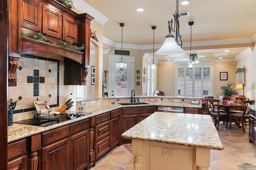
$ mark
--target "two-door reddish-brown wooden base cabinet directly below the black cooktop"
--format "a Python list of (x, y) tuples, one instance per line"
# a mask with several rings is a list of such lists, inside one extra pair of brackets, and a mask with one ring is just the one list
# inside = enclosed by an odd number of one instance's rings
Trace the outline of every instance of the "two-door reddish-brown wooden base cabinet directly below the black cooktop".
[(42, 170), (89, 169), (89, 119), (42, 133)]

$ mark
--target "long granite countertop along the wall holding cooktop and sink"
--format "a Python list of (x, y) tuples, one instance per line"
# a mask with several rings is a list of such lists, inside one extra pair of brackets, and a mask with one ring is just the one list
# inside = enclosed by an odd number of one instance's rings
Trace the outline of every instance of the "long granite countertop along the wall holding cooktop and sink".
[(120, 104), (101, 104), (97, 106), (90, 106), (86, 107), (86, 112), (92, 112), (90, 115), (86, 115), (83, 117), (79, 117), (76, 119), (64, 121), (62, 123), (57, 123), (55, 125), (51, 125), (48, 127), (40, 127), (40, 126), (34, 126), (34, 125), (24, 125), (24, 124), (18, 124), (13, 123), (13, 125), (8, 126), (8, 143), (17, 141), (32, 135), (36, 135), (38, 133), (42, 133), (51, 129), (55, 129), (57, 127), (61, 127), (64, 125), (68, 125), (70, 123), (80, 121), (83, 119), (87, 119), (89, 117), (93, 117), (96, 115), (100, 115), (102, 113), (106, 113), (108, 111), (112, 111), (115, 109), (119, 109), (122, 107), (143, 107), (143, 106), (173, 106), (173, 107), (190, 107), (190, 108), (202, 108), (201, 104), (187, 104), (187, 103), (178, 103), (178, 102), (146, 102), (148, 104), (145, 105), (132, 105), (132, 106), (122, 106)]

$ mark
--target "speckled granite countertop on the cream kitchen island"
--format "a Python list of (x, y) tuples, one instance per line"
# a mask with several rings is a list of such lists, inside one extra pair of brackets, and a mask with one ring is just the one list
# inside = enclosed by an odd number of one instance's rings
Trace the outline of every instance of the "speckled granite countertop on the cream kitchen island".
[(223, 150), (210, 115), (155, 112), (128, 131), (123, 138)]

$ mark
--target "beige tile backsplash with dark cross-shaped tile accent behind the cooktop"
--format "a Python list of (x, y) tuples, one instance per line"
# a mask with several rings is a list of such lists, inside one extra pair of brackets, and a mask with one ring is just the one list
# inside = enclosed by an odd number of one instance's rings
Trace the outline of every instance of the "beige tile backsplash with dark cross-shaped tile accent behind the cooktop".
[(58, 55), (22, 55), (16, 71), (17, 86), (8, 87), (8, 98), (18, 101), (13, 121), (34, 117), (33, 101), (48, 102), (52, 112), (66, 102), (74, 86), (63, 85), (63, 57)]

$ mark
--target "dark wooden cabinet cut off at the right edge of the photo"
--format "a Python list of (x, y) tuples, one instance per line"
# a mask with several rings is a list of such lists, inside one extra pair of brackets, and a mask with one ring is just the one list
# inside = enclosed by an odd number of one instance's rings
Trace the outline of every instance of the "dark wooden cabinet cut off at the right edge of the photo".
[(254, 144), (256, 144), (256, 132), (254, 131), (255, 126), (256, 126), (256, 109), (253, 107), (250, 107), (249, 109), (249, 141)]

